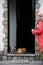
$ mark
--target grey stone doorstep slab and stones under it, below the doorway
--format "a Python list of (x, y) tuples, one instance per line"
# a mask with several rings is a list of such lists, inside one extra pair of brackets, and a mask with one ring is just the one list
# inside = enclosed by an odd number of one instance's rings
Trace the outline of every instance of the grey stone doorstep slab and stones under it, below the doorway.
[(35, 54), (8, 54), (13, 60), (34, 60)]

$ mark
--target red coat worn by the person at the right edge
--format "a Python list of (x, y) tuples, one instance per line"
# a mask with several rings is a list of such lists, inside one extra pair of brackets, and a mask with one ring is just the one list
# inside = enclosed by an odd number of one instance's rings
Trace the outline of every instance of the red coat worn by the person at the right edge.
[(32, 31), (32, 34), (37, 35), (40, 52), (43, 52), (43, 21), (38, 22), (38, 27)]

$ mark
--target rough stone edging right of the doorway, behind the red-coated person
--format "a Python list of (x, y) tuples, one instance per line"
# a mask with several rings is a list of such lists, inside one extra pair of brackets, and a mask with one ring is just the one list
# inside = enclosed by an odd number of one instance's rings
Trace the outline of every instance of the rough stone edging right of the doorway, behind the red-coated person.
[[(39, 3), (39, 0), (36, 0), (36, 3), (35, 3), (35, 27), (36, 27), (36, 23), (38, 21), (38, 18), (37, 18), (37, 14), (40, 12), (40, 3)], [(37, 37), (35, 37), (35, 51), (39, 51), (39, 47), (37, 45)]]

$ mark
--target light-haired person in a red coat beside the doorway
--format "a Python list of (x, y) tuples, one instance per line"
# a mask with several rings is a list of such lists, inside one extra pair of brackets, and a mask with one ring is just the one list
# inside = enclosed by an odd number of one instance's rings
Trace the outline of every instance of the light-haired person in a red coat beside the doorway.
[[(37, 35), (38, 39), (38, 47), (41, 52), (41, 57), (43, 55), (43, 20), (42, 20), (42, 14), (38, 15), (38, 23), (37, 28), (32, 29), (32, 34)], [(43, 58), (43, 57), (42, 57)]]

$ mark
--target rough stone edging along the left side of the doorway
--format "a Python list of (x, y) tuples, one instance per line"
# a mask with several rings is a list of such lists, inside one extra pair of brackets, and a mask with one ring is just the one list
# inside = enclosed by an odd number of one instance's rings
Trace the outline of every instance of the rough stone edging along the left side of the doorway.
[[(3, 3), (3, 33), (5, 34), (5, 37), (3, 38), (3, 42), (4, 42), (4, 49), (3, 49), (3, 54), (6, 55), (8, 53), (8, 2), (7, 0), (5, 0), (5, 2)], [(3, 59), (7, 59), (7, 56), (3, 56)]]

